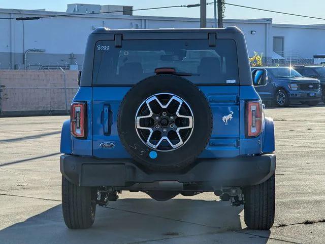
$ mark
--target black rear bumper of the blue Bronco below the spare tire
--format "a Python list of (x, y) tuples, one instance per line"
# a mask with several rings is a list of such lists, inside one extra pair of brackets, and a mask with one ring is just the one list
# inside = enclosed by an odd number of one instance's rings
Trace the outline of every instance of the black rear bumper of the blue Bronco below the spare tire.
[(274, 154), (234, 158), (198, 159), (183, 173), (146, 173), (132, 159), (96, 159), (63, 154), (60, 171), (79, 186), (113, 186), (132, 189), (136, 183), (175, 181), (209, 187), (257, 185), (275, 172)]

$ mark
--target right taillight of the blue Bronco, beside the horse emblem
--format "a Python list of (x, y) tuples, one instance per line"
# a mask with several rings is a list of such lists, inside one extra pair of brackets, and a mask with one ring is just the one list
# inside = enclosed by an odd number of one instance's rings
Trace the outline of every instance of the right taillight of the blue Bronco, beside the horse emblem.
[(263, 109), (261, 101), (246, 103), (246, 136), (256, 137), (262, 132)]

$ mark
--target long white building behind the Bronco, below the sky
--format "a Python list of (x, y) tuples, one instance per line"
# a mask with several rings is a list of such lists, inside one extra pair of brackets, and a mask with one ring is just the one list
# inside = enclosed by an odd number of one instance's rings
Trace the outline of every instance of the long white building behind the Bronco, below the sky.
[[(78, 8), (79, 7), (79, 8)], [(0, 68), (30, 69), (40, 65), (55, 68), (58, 65), (82, 65), (87, 36), (97, 27), (117, 28), (199, 28), (200, 19), (180, 17), (152, 17), (132, 15), (132, 6), (82, 6), (69, 5), (67, 12), (92, 12), (94, 10), (121, 9), (125, 14), (98, 14), (43, 18), (39, 20), (17, 21), (0, 19)], [(91, 7), (91, 8), (90, 8)], [(94, 9), (94, 10), (93, 10)], [(0, 9), (0, 18), (31, 16), (50, 16), (66, 14), (45, 10)], [(246, 36), (248, 52), (263, 53), (268, 64), (284, 62), (304, 63), (306, 59), (325, 53), (325, 25), (287, 25), (273, 24), (266, 19), (225, 19), (224, 26), (238, 26)], [(208, 19), (207, 27), (214, 27), (213, 19)]]

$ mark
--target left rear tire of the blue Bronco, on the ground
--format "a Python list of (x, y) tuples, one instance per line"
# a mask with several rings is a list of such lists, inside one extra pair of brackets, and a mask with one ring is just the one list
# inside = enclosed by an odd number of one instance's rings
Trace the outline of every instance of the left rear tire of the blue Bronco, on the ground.
[(77, 186), (62, 176), (62, 212), (69, 229), (87, 229), (95, 220), (96, 190)]

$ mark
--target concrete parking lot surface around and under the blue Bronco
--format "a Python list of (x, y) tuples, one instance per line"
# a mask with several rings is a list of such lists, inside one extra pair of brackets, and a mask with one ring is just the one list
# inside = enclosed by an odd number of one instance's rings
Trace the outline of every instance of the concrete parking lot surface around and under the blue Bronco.
[(122, 192), (91, 229), (61, 214), (59, 143), (68, 116), (0, 118), (0, 243), (324, 243), (325, 106), (270, 108), (276, 130), (276, 216), (270, 231), (244, 224), (243, 207), (213, 193), (157, 202)]

